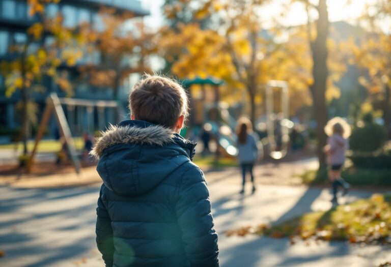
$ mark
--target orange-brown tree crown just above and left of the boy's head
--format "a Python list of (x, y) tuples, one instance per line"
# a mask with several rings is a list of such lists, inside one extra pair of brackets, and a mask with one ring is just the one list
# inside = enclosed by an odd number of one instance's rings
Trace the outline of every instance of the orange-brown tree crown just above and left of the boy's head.
[(131, 12), (102, 7), (99, 15), (104, 28), (90, 27), (96, 40), (88, 44), (88, 49), (99, 52), (100, 63), (86, 64), (79, 70), (91, 84), (111, 88), (114, 99), (119, 100), (118, 89), (130, 73), (152, 72), (148, 57), (156, 50), (155, 40), (145, 31), (143, 18)]

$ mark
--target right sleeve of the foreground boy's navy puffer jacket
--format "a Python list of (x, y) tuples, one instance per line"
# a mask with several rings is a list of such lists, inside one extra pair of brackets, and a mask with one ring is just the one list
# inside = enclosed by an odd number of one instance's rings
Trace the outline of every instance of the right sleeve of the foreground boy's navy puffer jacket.
[(191, 267), (218, 267), (217, 233), (202, 171), (194, 166), (182, 176), (175, 205), (178, 225)]

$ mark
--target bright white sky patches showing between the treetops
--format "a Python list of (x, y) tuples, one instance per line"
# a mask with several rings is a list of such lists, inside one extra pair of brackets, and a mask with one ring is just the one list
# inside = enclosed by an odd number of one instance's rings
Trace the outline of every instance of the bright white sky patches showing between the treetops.
[[(282, 11), (282, 3), (288, 0), (274, 0), (272, 4), (263, 8), (263, 20), (269, 20), (279, 16)], [(159, 27), (163, 23), (161, 14), (161, 5), (163, 0), (141, 0), (145, 9), (151, 12), (150, 16), (145, 18), (145, 22), (151, 28)], [(313, 0), (311, 2), (317, 2)], [(350, 4), (348, 4), (350, 2)], [(328, 0), (327, 6), (330, 21), (350, 21), (357, 18), (366, 7), (366, 4), (374, 3), (376, 0)], [(290, 12), (285, 14), (281, 20), (286, 25), (299, 25), (306, 23), (306, 14), (300, 4), (296, 3), (291, 6)]]

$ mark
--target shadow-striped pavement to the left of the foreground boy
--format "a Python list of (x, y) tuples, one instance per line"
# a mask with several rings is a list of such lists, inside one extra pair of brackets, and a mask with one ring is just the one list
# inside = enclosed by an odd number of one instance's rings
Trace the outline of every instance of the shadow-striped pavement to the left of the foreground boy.
[(98, 194), (99, 188), (0, 187), (0, 250), (6, 253), (0, 265), (57, 266), (91, 257)]

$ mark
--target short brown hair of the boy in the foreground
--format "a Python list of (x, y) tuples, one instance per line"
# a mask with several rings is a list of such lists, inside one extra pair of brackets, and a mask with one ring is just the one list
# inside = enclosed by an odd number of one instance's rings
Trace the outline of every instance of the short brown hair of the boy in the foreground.
[(133, 86), (129, 109), (136, 120), (174, 128), (181, 115), (188, 115), (187, 96), (176, 81), (145, 75)]

